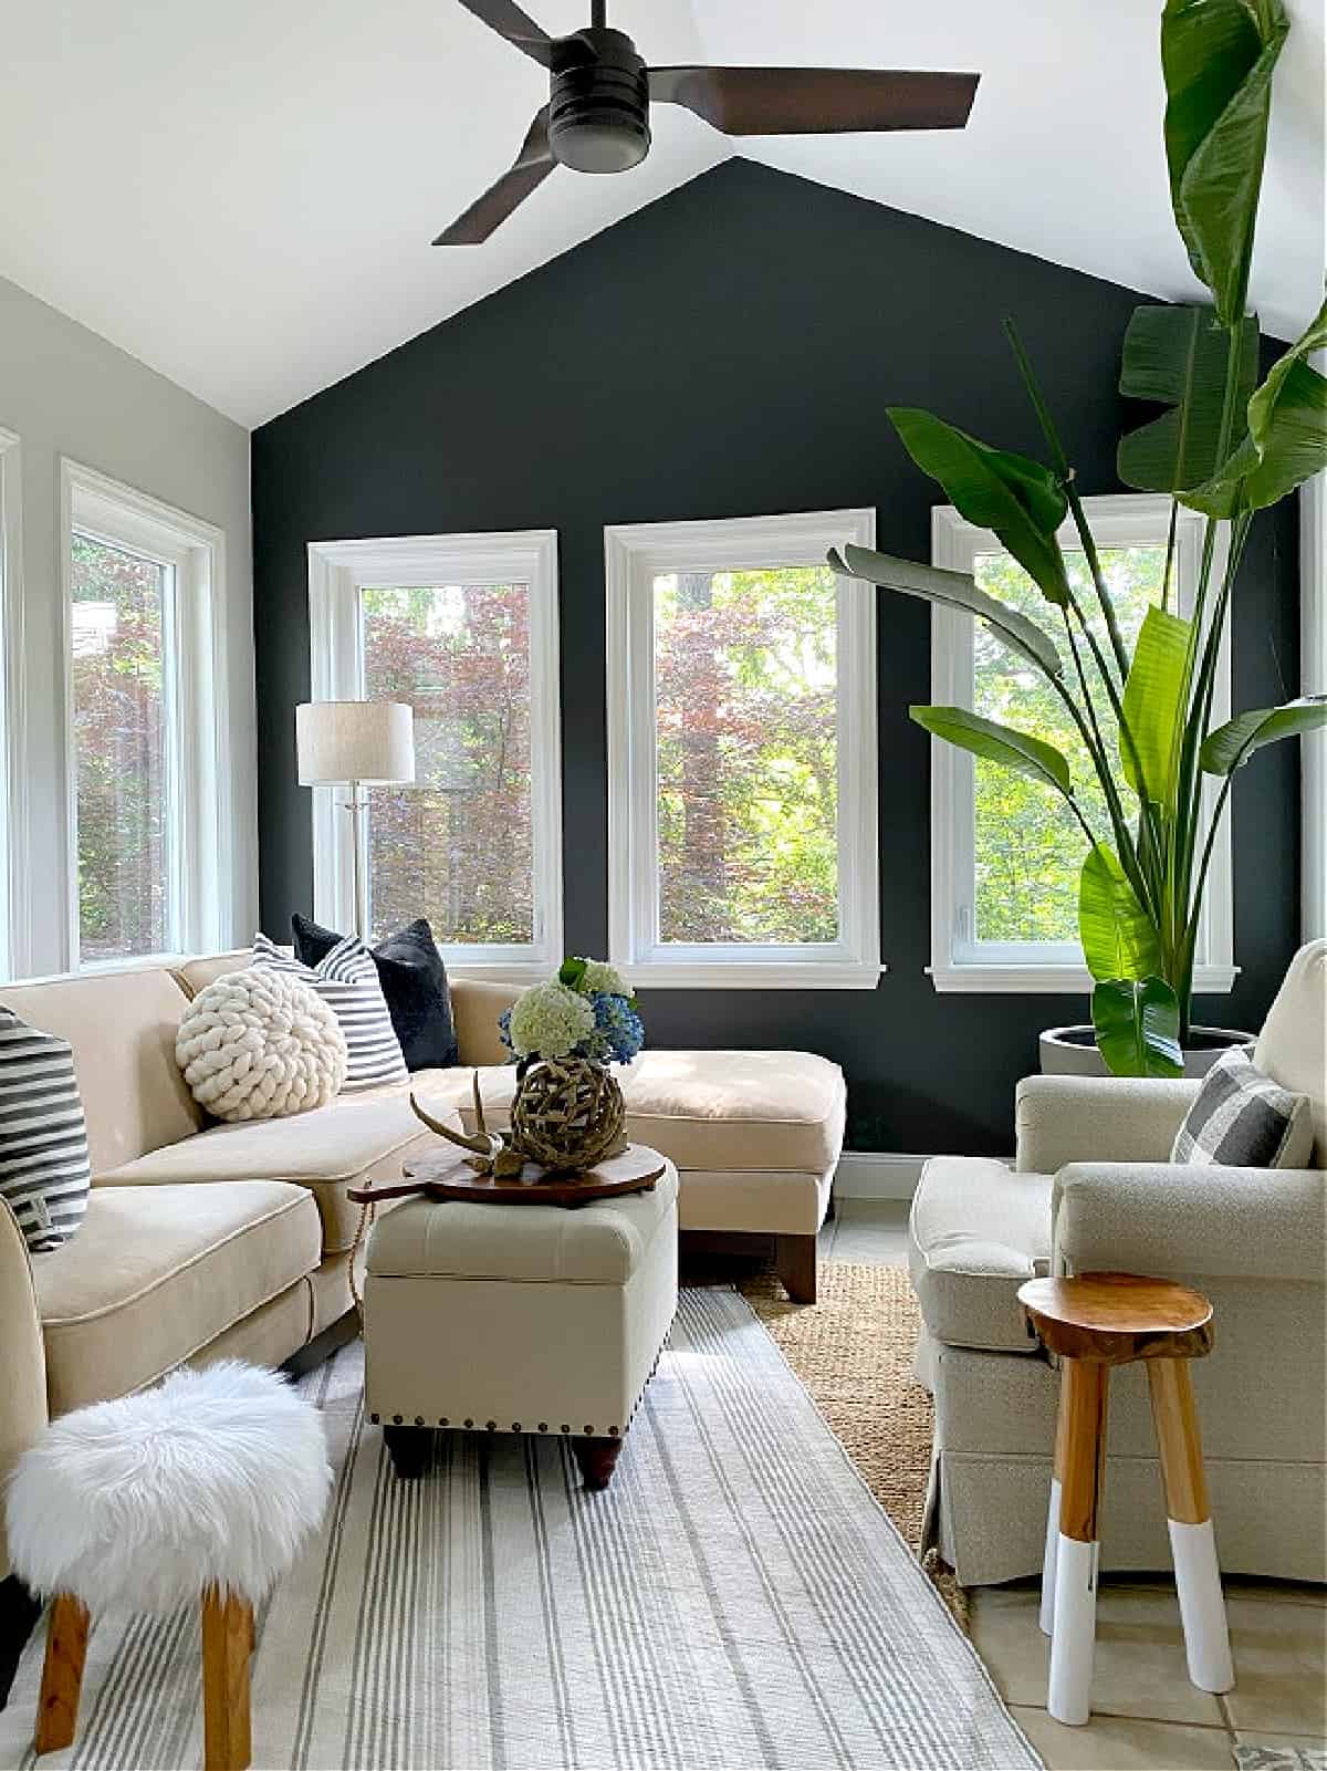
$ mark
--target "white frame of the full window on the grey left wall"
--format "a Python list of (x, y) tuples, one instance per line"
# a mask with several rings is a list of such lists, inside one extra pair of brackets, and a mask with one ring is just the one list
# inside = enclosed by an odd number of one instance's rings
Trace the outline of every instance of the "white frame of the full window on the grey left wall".
[[(80, 960), (78, 924), (78, 747), (73, 673), (73, 538), (92, 535), (111, 547), (173, 567), (163, 611), (166, 655), (166, 829), (173, 832), (166, 893), (166, 949)], [(96, 468), (60, 459), (60, 659), (64, 671), (64, 868), (65, 971), (115, 971), (145, 960), (207, 953), (232, 939), (234, 804), (226, 682), (225, 531)]]

